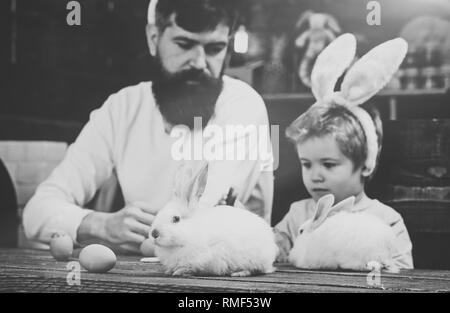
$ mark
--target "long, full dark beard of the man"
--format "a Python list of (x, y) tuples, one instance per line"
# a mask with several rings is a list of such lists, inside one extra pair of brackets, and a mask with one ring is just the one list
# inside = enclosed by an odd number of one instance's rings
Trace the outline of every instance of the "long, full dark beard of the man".
[(159, 110), (169, 124), (194, 129), (194, 117), (205, 127), (213, 116), (222, 92), (222, 77), (213, 78), (201, 70), (191, 69), (169, 74), (156, 57), (156, 75), (152, 89)]

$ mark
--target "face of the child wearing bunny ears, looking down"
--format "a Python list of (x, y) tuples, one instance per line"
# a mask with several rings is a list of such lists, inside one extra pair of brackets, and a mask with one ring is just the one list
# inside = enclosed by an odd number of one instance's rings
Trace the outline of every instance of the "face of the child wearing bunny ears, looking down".
[(297, 153), (303, 183), (316, 202), (332, 193), (337, 203), (364, 190), (362, 169), (354, 169), (333, 136), (314, 137), (297, 144)]

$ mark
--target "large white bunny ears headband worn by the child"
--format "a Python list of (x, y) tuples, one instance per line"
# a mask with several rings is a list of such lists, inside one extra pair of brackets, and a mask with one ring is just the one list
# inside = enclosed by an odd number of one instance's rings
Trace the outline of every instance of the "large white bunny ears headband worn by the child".
[[(368, 175), (375, 169), (378, 140), (372, 118), (359, 105), (384, 88), (407, 51), (407, 42), (396, 38), (376, 46), (350, 67), (356, 54), (356, 38), (347, 33), (336, 38), (320, 53), (311, 73), (311, 89), (317, 100), (313, 106), (334, 102), (348, 108), (359, 120), (367, 141), (365, 166)], [(347, 69), (341, 90), (335, 92), (336, 82)]]

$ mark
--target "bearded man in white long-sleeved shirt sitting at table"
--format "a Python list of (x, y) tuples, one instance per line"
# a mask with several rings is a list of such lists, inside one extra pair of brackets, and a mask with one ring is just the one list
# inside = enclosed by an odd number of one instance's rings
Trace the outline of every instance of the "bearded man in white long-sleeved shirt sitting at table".
[[(268, 130), (266, 107), (249, 85), (224, 75), (237, 21), (235, 1), (152, 0), (148, 11), (154, 79), (120, 90), (91, 113), (64, 160), (24, 209), (31, 240), (49, 243), (53, 233), (65, 232), (76, 245), (101, 242), (138, 253), (155, 215), (173, 197), (180, 162), (193, 161), (174, 155), (181, 140), (172, 136), (177, 126), (189, 130), (186, 138), (209, 126), (224, 130), (220, 136), (217, 131), (200, 136), (202, 143), (210, 151), (231, 147), (244, 156), (224, 153), (201, 160), (208, 164), (208, 177), (198, 204), (220, 203), (231, 187), (239, 203), (270, 223), (273, 156), (270, 138), (258, 133)], [(225, 129), (234, 126), (240, 131), (227, 135)], [(269, 139), (263, 142), (265, 157), (259, 153), (261, 138)], [(117, 176), (125, 207), (87, 209), (111, 175)]]

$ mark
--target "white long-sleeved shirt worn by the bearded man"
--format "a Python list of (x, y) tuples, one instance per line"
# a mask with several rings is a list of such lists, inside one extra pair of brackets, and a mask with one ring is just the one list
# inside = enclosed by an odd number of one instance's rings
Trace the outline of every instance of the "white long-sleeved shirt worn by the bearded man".
[[(269, 127), (265, 104), (249, 85), (224, 76), (224, 87), (208, 125), (256, 126), (233, 139), (218, 138), (214, 147), (246, 147), (258, 126)], [(217, 139), (217, 138), (216, 138)], [(217, 204), (230, 186), (238, 200), (259, 199), (262, 207), (253, 208), (270, 223), (273, 199), (273, 154), (270, 137), (266, 158), (256, 160), (213, 160), (208, 165), (208, 182), (200, 204)], [(174, 174), (179, 163), (171, 147), (177, 138), (164, 131), (162, 115), (155, 105), (151, 82), (143, 82), (111, 95), (90, 115), (64, 160), (36, 190), (23, 213), (28, 238), (49, 242), (55, 231), (65, 231), (74, 240), (83, 218), (92, 212), (83, 206), (115, 170), (125, 203), (144, 202), (160, 209), (173, 194)], [(208, 140), (208, 139), (205, 139)], [(215, 150), (213, 150), (215, 151)], [(226, 150), (225, 150), (226, 151)]]

